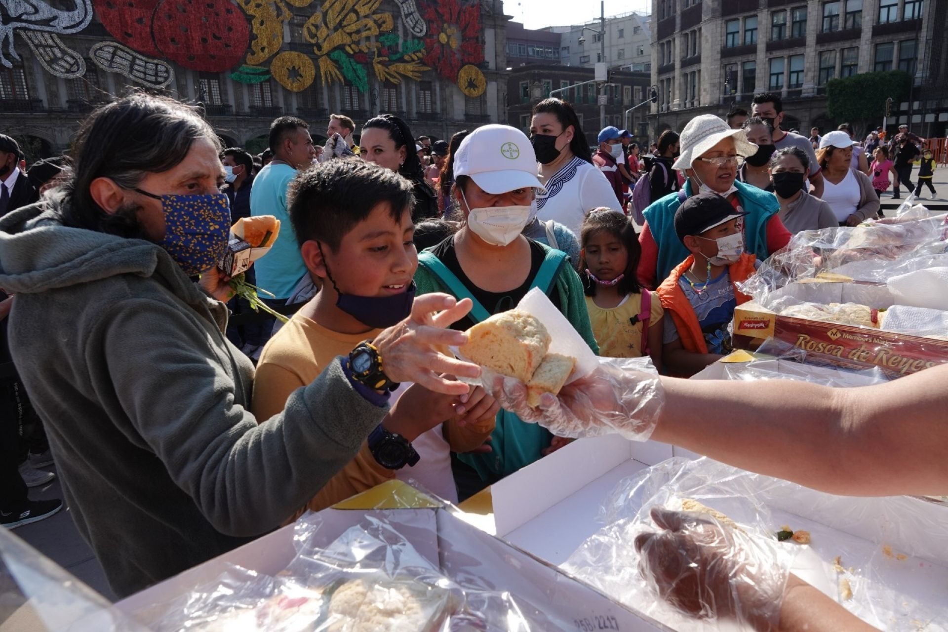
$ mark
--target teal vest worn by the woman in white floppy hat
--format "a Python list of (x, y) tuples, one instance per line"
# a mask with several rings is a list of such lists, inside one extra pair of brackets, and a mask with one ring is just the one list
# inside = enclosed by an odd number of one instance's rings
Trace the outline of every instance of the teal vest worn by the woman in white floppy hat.
[[(757, 189), (737, 180), (734, 186), (738, 188), (740, 207), (747, 213), (744, 217), (744, 251), (752, 252), (757, 255), (757, 259), (764, 261), (771, 254), (767, 249), (767, 223), (780, 210), (780, 203), (777, 202), (774, 193)], [(685, 198), (693, 195), (691, 180), (685, 181), (683, 190)], [(684, 259), (691, 254), (675, 232), (675, 211), (681, 205), (682, 198), (679, 192), (668, 193), (661, 200), (651, 203), (643, 213), (652, 238), (655, 244), (658, 244), (656, 285), (665, 280), (675, 266), (684, 262)]]

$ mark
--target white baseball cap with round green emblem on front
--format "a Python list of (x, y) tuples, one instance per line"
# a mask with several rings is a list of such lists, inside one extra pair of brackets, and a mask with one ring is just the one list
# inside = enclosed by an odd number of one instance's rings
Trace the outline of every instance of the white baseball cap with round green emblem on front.
[(537, 172), (537, 154), (530, 139), (509, 125), (477, 128), (454, 154), (454, 177), (470, 176), (478, 187), (495, 195), (516, 189), (544, 190)]

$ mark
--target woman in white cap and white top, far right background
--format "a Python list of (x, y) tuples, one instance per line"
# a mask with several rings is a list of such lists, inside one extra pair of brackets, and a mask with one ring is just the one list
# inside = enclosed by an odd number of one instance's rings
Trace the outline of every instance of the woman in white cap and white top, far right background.
[(836, 130), (823, 135), (816, 159), (823, 169), (823, 201), (830, 205), (840, 226), (858, 226), (879, 212), (879, 195), (866, 173), (853, 169), (849, 135)]

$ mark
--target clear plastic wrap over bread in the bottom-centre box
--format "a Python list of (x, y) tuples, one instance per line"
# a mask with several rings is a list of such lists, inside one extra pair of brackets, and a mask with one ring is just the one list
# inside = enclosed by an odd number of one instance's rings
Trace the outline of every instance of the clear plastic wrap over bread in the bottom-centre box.
[(158, 632), (530, 632), (569, 625), (480, 582), (476, 564), (469, 576), (447, 577), (438, 569), (437, 551), (422, 553), (404, 534), (430, 524), (423, 519), (395, 524), (386, 515), (364, 515), (324, 547), (316, 537), (319, 515), (303, 515), (294, 527), (297, 555), (282, 572), (271, 577), (234, 567), (162, 605), (165, 614), (153, 627)]

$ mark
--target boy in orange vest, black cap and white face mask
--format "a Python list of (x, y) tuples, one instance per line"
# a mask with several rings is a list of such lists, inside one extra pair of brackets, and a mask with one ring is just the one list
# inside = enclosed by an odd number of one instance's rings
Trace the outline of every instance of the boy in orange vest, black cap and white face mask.
[(689, 197), (675, 212), (675, 232), (691, 254), (658, 288), (665, 308), (663, 361), (690, 377), (731, 352), (728, 325), (746, 302), (735, 283), (757, 269), (744, 252), (744, 213), (715, 193)]

